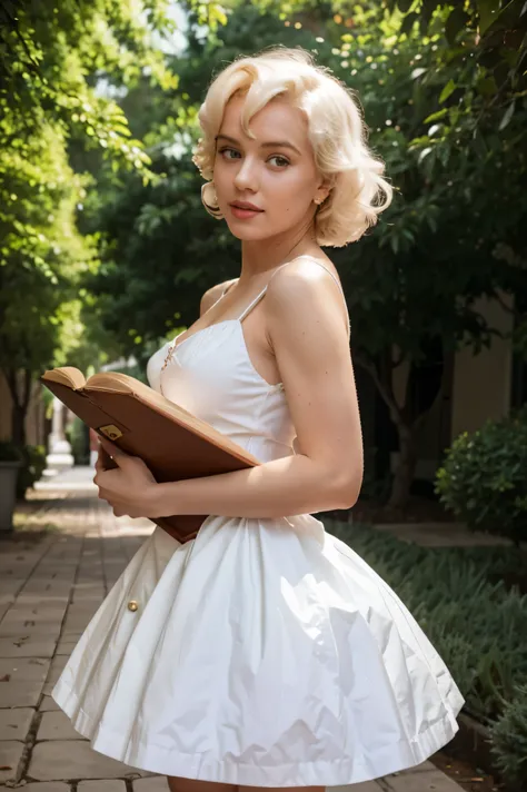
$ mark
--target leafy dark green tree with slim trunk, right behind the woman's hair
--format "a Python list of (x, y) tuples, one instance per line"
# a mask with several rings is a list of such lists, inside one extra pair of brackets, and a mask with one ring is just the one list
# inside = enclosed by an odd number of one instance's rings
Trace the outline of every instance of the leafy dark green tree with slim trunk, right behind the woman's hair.
[[(344, 14), (334, 21), (342, 30)], [(336, 73), (346, 81), (355, 77), (374, 146), (397, 192), (379, 228), (360, 246), (338, 251), (336, 260), (350, 303), (356, 359), (372, 376), (397, 429), (400, 455), (389, 504), (404, 507), (418, 432), (448, 386), (445, 360), (464, 345), (477, 354), (496, 334), (476, 299), (504, 301), (504, 293), (514, 297), (527, 288), (520, 234), (525, 157), (516, 150), (524, 125), (517, 113), (498, 129), (490, 113), (479, 118), (479, 107), (459, 123), (454, 101), (440, 107), (448, 97), (444, 88), (438, 96), (444, 73), (437, 52), (445, 46), (439, 13), (425, 37), (417, 24), (404, 32), (397, 14), (375, 8), (356, 8), (351, 21), (340, 43), (330, 36), (322, 44), (331, 46)], [(504, 247), (521, 255), (504, 256)], [(416, 379), (430, 362), (436, 390), (418, 399)], [(408, 378), (399, 404), (394, 372), (404, 364)]]

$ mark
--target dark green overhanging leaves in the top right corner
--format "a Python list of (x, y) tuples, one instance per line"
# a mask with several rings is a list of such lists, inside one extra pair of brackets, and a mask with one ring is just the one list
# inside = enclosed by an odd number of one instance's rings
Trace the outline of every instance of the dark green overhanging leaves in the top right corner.
[[(355, 0), (335, 1), (332, 8), (340, 19), (350, 17), (355, 27), (360, 11)], [(480, 130), (503, 131), (515, 116), (517, 129), (521, 128), (527, 44), (521, 0), (466, 0), (463, 6), (445, 0), (387, 0), (384, 9), (398, 20), (398, 46), (411, 36), (434, 43), (432, 62), (420, 63), (415, 77), (436, 87), (438, 105), (444, 106), (438, 118), (450, 111), (455, 115), (450, 129), (447, 121), (450, 143), (460, 136), (464, 146), (470, 146), (471, 139), (480, 148)]]

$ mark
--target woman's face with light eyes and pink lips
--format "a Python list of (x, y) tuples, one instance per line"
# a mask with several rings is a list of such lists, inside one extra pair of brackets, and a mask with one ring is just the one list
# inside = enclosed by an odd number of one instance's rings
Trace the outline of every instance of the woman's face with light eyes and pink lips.
[[(213, 181), (229, 229), (239, 239), (258, 240), (309, 226), (314, 199), (327, 192), (305, 117), (286, 100), (274, 99), (250, 120), (253, 140), (241, 127), (243, 101), (240, 96), (229, 100), (216, 141)], [(235, 201), (261, 211), (242, 217), (231, 206)]]

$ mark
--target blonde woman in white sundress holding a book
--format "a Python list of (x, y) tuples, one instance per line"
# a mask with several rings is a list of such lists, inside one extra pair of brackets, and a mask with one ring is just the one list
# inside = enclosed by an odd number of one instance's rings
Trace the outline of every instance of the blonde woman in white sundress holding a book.
[(362, 476), (349, 319), (320, 246), (359, 239), (391, 188), (351, 95), (302, 50), (236, 60), (199, 120), (203, 202), (241, 240), (241, 271), (148, 376), (262, 464), (156, 484), (101, 440), (116, 515), (211, 516), (183, 545), (155, 529), (53, 697), (172, 792), (376, 779), (449, 742), (464, 703), (396, 594), (311, 516), (352, 506)]

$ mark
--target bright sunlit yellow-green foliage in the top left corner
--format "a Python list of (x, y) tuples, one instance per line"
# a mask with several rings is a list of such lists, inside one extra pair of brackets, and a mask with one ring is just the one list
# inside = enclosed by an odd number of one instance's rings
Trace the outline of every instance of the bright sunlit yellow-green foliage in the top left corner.
[(93, 77), (132, 86), (148, 71), (152, 86), (176, 88), (176, 76), (150, 41), (151, 30), (173, 29), (167, 7), (167, 0), (6, 0), (0, 9), (0, 148), (23, 146), (52, 122), (88, 148), (100, 147), (116, 168), (145, 168), (140, 141), (130, 139), (126, 116), (100, 96)]

